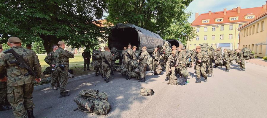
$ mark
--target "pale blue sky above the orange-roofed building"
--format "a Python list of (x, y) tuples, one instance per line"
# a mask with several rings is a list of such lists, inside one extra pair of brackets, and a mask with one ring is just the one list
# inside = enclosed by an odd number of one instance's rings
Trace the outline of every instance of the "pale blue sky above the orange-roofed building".
[(244, 8), (252, 8), (252, 7), (260, 7), (263, 4), (266, 4), (266, 0), (194, 0), (189, 4), (186, 12), (192, 12), (191, 17), (188, 19), (188, 22), (192, 23), (195, 19), (195, 13), (203, 14), (212, 12), (220, 12), (223, 11), (224, 8), (226, 10), (231, 10), (238, 6), (241, 9)]

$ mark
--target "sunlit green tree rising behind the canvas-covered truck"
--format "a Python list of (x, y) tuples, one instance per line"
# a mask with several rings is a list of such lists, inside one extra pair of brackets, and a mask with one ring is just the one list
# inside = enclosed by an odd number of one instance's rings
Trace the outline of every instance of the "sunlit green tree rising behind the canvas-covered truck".
[[(193, 28), (187, 22), (185, 8), (193, 0), (108, 0), (107, 21), (113, 24), (131, 23), (167, 38), (187, 39)], [(170, 28), (184, 27), (186, 32), (170, 32)], [(183, 35), (181, 35), (183, 34)], [(178, 37), (184, 36), (184, 37)]]

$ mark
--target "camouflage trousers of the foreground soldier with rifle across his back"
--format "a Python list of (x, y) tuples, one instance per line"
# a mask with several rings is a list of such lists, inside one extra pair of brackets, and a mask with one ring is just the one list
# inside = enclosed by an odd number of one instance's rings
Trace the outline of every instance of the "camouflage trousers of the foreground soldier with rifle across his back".
[(26, 118), (26, 110), (31, 111), (34, 109), (35, 105), (32, 99), (33, 90), (33, 83), (20, 86), (7, 86), (7, 99), (12, 106), (15, 118)]

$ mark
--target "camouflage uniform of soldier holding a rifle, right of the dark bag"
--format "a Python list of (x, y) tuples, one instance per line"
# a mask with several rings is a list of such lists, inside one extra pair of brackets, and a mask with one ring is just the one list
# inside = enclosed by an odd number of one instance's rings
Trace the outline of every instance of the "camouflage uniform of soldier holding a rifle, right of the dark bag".
[(196, 57), (201, 60), (202, 66), (200, 62), (196, 60), (196, 74), (197, 78), (200, 79), (200, 72), (202, 73), (203, 77), (207, 78), (206, 74), (206, 68), (207, 68), (207, 63), (209, 60), (209, 55), (205, 51), (201, 51), (200, 53), (196, 52)]

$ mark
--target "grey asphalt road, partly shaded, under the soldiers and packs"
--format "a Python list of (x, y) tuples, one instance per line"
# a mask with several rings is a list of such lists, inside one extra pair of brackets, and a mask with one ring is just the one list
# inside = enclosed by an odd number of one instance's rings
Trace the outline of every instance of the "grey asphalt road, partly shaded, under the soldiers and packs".
[[(34, 115), (36, 118), (87, 118), (104, 117), (84, 113), (77, 108), (73, 98), (83, 89), (105, 91), (112, 110), (107, 117), (112, 118), (266, 118), (267, 117), (267, 67), (246, 63), (244, 72), (237, 65), (231, 65), (230, 72), (225, 68), (213, 70), (206, 83), (195, 83), (193, 68), (188, 68), (190, 83), (173, 86), (164, 83), (164, 74), (146, 74), (147, 81), (126, 80), (115, 73), (109, 83), (99, 76), (69, 80), (67, 89), (70, 96), (59, 98), (59, 90), (47, 85), (36, 86), (33, 93)], [(140, 88), (151, 88), (153, 96), (141, 96)], [(14, 117), (12, 110), (1, 111), (1, 118)]]

